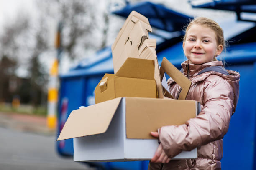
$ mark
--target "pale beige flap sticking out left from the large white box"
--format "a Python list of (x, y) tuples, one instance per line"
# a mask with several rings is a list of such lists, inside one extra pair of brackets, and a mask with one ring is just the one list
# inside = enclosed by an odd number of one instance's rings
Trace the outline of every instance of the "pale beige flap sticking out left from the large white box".
[(73, 110), (57, 140), (105, 133), (122, 97)]

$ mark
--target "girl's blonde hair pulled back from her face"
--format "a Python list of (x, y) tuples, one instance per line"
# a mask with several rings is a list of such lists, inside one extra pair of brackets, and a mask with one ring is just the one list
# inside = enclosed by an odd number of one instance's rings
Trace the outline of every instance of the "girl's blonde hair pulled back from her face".
[[(187, 31), (190, 29), (190, 27), (193, 24), (198, 24), (198, 25), (202, 25), (202, 26), (211, 28), (215, 32), (217, 45), (222, 45), (223, 50), (224, 51), (226, 50), (227, 42), (224, 39), (224, 33), (223, 33), (222, 28), (214, 20), (212, 20), (210, 18), (206, 18), (206, 17), (197, 17), (190, 21), (190, 23), (185, 28), (185, 36), (183, 37), (183, 42), (186, 40)], [(215, 61), (217, 60), (216, 57), (214, 57), (214, 60)]]

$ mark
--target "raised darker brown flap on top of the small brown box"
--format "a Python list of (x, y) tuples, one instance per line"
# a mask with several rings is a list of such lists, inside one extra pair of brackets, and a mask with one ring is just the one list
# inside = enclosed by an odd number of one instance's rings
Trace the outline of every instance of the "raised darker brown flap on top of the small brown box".
[(127, 58), (115, 75), (118, 77), (155, 80), (154, 70), (154, 60)]

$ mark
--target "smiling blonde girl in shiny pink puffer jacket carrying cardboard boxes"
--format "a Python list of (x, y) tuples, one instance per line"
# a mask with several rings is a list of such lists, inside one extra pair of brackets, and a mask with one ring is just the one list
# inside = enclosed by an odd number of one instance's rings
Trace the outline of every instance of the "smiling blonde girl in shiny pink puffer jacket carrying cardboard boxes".
[[(198, 17), (189, 23), (183, 39), (188, 60), (181, 65), (183, 74), (192, 82), (187, 100), (199, 101), (201, 112), (184, 125), (164, 126), (158, 132), (151, 132), (161, 143), (148, 170), (221, 169), (222, 138), (236, 109), (240, 77), (238, 72), (225, 70), (222, 62), (216, 60), (223, 49), (223, 30), (215, 21)], [(202, 71), (205, 68), (208, 70)], [(168, 85), (171, 94), (177, 97), (180, 87), (172, 79), (168, 80)], [(196, 159), (171, 160), (183, 150), (196, 147)]]

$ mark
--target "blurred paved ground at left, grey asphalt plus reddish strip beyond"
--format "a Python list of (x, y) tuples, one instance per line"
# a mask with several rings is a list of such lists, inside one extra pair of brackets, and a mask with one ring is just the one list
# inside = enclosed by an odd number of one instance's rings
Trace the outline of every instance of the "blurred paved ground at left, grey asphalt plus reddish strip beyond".
[(45, 117), (0, 112), (0, 170), (95, 170), (59, 156)]

